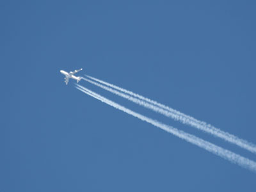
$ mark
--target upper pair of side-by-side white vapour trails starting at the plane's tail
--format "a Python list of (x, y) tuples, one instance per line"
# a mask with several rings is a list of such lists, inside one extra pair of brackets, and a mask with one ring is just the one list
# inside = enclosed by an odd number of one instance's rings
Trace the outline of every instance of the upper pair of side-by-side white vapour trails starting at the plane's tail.
[[(133, 93), (129, 90), (125, 90), (124, 88), (120, 88), (114, 84), (106, 83), (105, 81), (102, 81), (95, 77), (91, 77), (91, 76), (86, 76), (86, 77), (89, 77), (90, 79), (97, 81), (99, 83), (105, 84), (111, 88), (115, 88), (116, 90), (119, 90), (120, 92), (123, 92), (123, 93), (113, 90), (107, 86), (103, 86), (102, 84), (95, 83), (94, 81), (90, 81), (89, 79), (83, 78), (85, 81), (95, 84), (95, 85), (99, 86), (100, 88), (103, 88), (105, 90), (108, 90), (109, 92), (115, 93), (116, 95), (119, 95), (120, 97), (124, 97), (125, 99), (131, 100), (132, 102), (135, 102), (136, 104), (140, 104), (141, 106), (144, 106), (145, 108), (152, 109), (153, 111), (156, 111), (157, 113), (161, 113), (162, 115), (173, 118), (174, 120), (182, 122), (182, 124), (191, 125), (192, 127), (195, 127), (196, 129), (200, 129), (201, 131), (212, 134), (213, 136), (216, 136), (225, 141), (233, 143), (234, 145), (237, 145), (241, 148), (244, 148), (244, 149), (256, 154), (256, 145), (254, 145), (253, 143), (250, 143), (246, 140), (240, 139), (237, 136), (234, 136), (233, 134), (230, 134), (228, 132), (221, 131), (220, 129), (218, 129), (210, 124), (207, 124), (200, 120), (196, 120), (192, 116), (185, 115), (184, 113), (181, 113), (181, 112), (179, 112), (175, 109), (172, 109), (168, 106), (164, 106), (163, 104), (160, 104), (154, 100), (150, 100), (146, 97), (138, 95), (137, 93)], [(126, 93), (126, 94), (124, 94), (124, 93)]]

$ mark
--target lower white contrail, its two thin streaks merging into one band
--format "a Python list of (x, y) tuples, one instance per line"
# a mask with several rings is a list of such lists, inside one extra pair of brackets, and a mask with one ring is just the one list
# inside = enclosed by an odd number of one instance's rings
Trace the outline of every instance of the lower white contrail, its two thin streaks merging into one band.
[(125, 113), (132, 115), (136, 118), (139, 118), (140, 120), (143, 120), (145, 122), (148, 122), (149, 124), (152, 124), (156, 127), (159, 127), (160, 129), (163, 129), (164, 131), (170, 132), (171, 134), (188, 141), (189, 143), (192, 143), (200, 148), (204, 148), (205, 150), (211, 152), (212, 154), (216, 154), (217, 156), (222, 157), (223, 159), (226, 159), (230, 161), (231, 163), (238, 164), (239, 166), (243, 168), (247, 168), (248, 170), (251, 170), (252, 172), (256, 172), (256, 162), (252, 161), (250, 159), (247, 159), (246, 157), (239, 156), (238, 154), (235, 154), (234, 152), (231, 152), (230, 150), (218, 147), (217, 145), (214, 145), (208, 141), (202, 140), (200, 138), (197, 138), (196, 136), (192, 134), (188, 134), (184, 131), (180, 131), (174, 127), (171, 127), (169, 125), (163, 124), (161, 122), (158, 122), (157, 120), (153, 120), (152, 118), (148, 118), (147, 116), (141, 115), (140, 113), (136, 113), (132, 111), (131, 109), (127, 109), (124, 106), (121, 106), (120, 104), (117, 104), (116, 102), (113, 102), (112, 100), (106, 99), (105, 97), (102, 97), (101, 95), (92, 92), (91, 90), (88, 90), (87, 88), (84, 88), (83, 86), (76, 84), (76, 88), (80, 90), (81, 92), (86, 93), (87, 95), (90, 95), (94, 97), (95, 99), (98, 99), (109, 106), (112, 106), (113, 108), (119, 109), (120, 111), (124, 111)]

